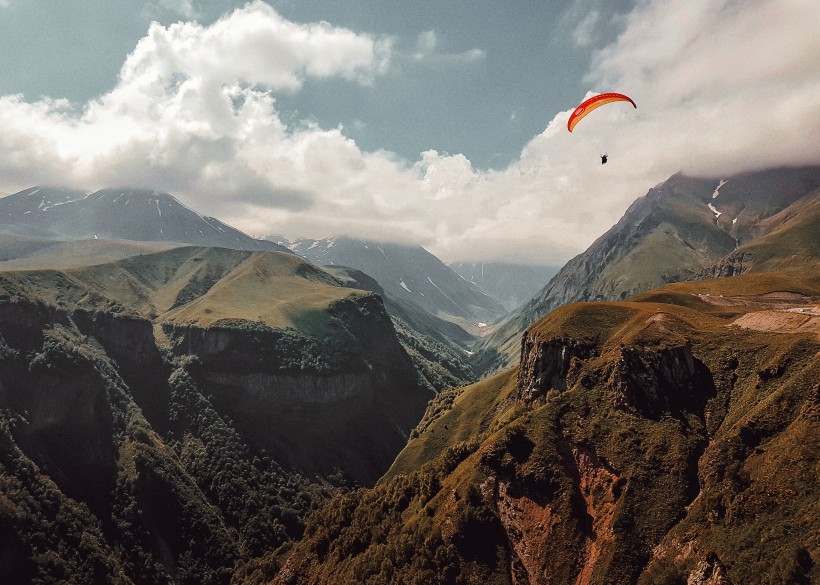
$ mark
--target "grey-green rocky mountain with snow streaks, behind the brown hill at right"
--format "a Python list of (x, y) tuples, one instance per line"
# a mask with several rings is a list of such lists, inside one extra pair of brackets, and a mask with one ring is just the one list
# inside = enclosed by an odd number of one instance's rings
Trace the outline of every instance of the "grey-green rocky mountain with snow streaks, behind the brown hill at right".
[[(520, 332), (556, 307), (576, 301), (625, 299), (698, 276), (736, 249), (774, 232), (815, 197), (818, 187), (820, 167), (728, 178), (680, 174), (669, 178), (637, 199), (617, 224), (481, 340), (476, 347), (479, 369), (489, 371), (513, 363)], [(812, 233), (811, 222), (808, 226), (806, 237)], [(792, 244), (792, 240), (782, 242), (783, 246)]]

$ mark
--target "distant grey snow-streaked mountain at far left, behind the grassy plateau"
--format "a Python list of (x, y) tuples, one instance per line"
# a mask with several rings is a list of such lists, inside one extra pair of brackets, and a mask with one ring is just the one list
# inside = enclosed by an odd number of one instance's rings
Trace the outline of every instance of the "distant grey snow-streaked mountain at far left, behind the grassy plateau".
[(103, 189), (86, 195), (59, 187), (32, 187), (0, 199), (0, 230), (54, 239), (179, 242), (286, 251), (200, 215), (168, 193), (146, 189)]

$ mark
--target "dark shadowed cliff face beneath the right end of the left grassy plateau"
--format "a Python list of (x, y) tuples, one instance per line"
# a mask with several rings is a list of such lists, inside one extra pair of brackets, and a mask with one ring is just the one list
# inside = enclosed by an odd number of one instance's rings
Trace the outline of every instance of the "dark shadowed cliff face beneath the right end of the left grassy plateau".
[(381, 300), (352, 297), (328, 311), (324, 339), (234, 323), (166, 324), (178, 356), (257, 448), (305, 473), (341, 469), (372, 484), (432, 398), (399, 345)]

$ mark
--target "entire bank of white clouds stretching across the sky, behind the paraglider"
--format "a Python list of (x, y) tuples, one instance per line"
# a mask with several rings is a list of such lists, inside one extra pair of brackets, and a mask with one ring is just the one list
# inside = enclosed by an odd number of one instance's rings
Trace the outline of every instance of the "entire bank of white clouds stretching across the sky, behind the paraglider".
[[(256, 2), (207, 27), (152, 25), (117, 86), (81, 109), (0, 98), (0, 187), (145, 185), (256, 234), (566, 260), (675, 172), (820, 164), (818, 20), (814, 0), (641, 1), (587, 77), (590, 93), (621, 91), (638, 109), (601, 108), (570, 134), (567, 104), (517, 161), (488, 171), (458, 153), (404, 161), (362, 151), (341, 128), (284, 123), (277, 92), (308, 77), (378, 83), (392, 41)], [(416, 49), (442, 54), (433, 31)]]

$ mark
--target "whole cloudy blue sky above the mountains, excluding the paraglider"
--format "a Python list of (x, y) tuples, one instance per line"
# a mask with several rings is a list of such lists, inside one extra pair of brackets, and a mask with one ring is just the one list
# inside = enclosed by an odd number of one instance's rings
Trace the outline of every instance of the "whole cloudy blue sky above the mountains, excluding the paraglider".
[[(817, 22), (817, 0), (0, 0), (0, 193), (147, 187), (252, 235), (560, 264), (677, 172), (820, 164)], [(569, 133), (607, 91), (637, 109)]]

